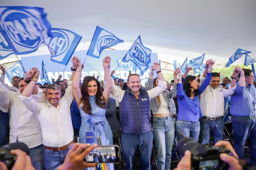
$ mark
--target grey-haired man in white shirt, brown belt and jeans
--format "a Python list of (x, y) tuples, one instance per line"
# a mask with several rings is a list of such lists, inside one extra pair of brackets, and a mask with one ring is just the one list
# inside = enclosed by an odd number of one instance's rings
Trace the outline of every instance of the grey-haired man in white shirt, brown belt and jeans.
[[(76, 69), (77, 57), (72, 58), (73, 69)], [(81, 70), (76, 70), (80, 71)], [(31, 97), (31, 88), (38, 78), (39, 70), (37, 68), (30, 69), (34, 75), (32, 80), (19, 96), (25, 107), (33, 112), (41, 124), (44, 149), (44, 167), (46, 170), (57, 169), (65, 160), (69, 148), (74, 143), (73, 126), (70, 115), (70, 105), (74, 95), (72, 91), (72, 80), (75, 71), (72, 71), (70, 86), (67, 86), (65, 95), (61, 98), (61, 89), (57, 84), (50, 84), (46, 88), (45, 103), (38, 103)]]

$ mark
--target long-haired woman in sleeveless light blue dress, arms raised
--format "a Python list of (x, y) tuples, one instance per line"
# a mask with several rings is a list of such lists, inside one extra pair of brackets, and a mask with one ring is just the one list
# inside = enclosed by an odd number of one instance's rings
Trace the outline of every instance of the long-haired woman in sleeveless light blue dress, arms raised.
[[(106, 87), (102, 92), (98, 80), (94, 76), (88, 76), (83, 80), (81, 89), (81, 63), (78, 63), (72, 82), (73, 93), (77, 102), (82, 124), (79, 131), (79, 143), (98, 143), (97, 136), (101, 138), (102, 145), (113, 145), (113, 133), (106, 119), (106, 102), (113, 86), (110, 76), (110, 57), (103, 59), (104, 79)], [(108, 165), (114, 169), (113, 164)]]

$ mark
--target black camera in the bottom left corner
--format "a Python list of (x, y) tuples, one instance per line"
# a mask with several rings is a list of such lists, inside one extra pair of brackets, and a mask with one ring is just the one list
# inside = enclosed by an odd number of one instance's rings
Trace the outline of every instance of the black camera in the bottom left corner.
[(26, 152), (27, 155), (29, 155), (29, 148), (25, 143), (15, 142), (9, 145), (2, 146), (0, 148), (0, 161), (3, 162), (9, 170), (13, 167), (15, 160), (17, 159), (17, 156), (11, 154), (10, 152), (11, 150), (14, 150), (14, 149), (20, 149)]

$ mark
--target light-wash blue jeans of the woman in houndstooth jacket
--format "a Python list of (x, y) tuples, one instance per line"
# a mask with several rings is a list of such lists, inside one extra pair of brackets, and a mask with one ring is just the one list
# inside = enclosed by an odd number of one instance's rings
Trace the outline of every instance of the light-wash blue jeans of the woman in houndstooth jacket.
[(174, 140), (174, 124), (171, 116), (153, 117), (153, 133), (157, 145), (157, 169), (169, 170)]

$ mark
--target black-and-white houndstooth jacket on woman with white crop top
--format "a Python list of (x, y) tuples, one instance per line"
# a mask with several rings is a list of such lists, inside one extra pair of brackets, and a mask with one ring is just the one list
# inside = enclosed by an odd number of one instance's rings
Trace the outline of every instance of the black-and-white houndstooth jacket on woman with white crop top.
[[(173, 103), (171, 102), (171, 99), (177, 96), (177, 86), (178, 83), (174, 83), (174, 87), (172, 91), (169, 90), (165, 90), (162, 94), (163, 97), (165, 98), (166, 103), (168, 104), (168, 106), (174, 110), (175, 105), (173, 105)], [(151, 90), (153, 88), (153, 79), (148, 79), (147, 80), (147, 86), (146, 86), (146, 90)], [(157, 101), (157, 97), (155, 97), (154, 99), (151, 99), (149, 101), (149, 108), (150, 110), (152, 110), (153, 112), (157, 112), (159, 109), (160, 105)]]

